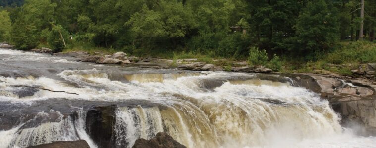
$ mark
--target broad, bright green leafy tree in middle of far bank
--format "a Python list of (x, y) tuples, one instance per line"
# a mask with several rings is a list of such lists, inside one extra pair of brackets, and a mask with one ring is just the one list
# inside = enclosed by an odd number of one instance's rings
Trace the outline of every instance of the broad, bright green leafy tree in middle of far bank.
[(167, 0), (161, 0), (154, 10), (144, 5), (125, 25), (131, 27), (141, 46), (151, 48), (156, 47), (157, 42), (163, 42), (166, 45), (163, 47), (170, 45), (170, 48), (176, 48), (181, 44), (179, 41), (197, 27), (190, 9), (183, 7), (180, 2)]

